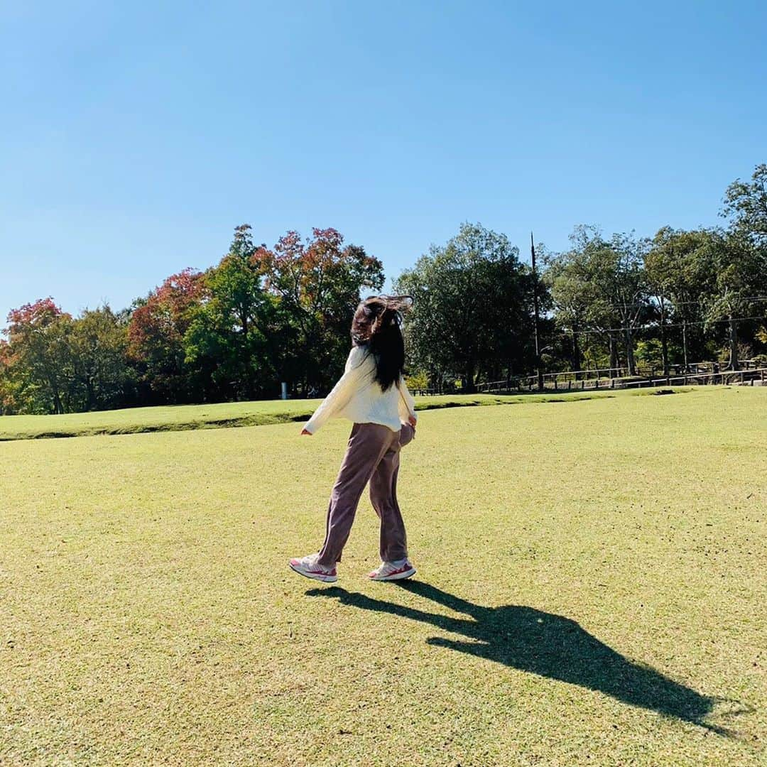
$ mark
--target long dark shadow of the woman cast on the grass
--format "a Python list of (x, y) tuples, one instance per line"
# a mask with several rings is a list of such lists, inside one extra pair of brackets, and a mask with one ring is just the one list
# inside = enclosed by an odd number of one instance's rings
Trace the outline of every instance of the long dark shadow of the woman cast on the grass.
[(587, 690), (599, 690), (632, 706), (683, 719), (720, 735), (732, 735), (705, 721), (720, 699), (703, 696), (650, 667), (632, 663), (570, 618), (512, 604), (482, 607), (420, 581), (401, 581), (397, 585), (469, 617), (447, 617), (337, 587), (311, 589), (307, 594), (335, 597), (342, 604), (463, 634), (469, 641), (432, 637), (427, 642)]

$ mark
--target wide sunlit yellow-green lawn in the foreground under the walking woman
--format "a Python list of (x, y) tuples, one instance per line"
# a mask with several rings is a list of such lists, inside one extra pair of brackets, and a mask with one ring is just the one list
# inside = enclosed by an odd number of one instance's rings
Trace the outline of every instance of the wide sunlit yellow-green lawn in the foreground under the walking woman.
[(288, 570), (347, 423), (0, 444), (0, 764), (764, 765), (767, 390), (527, 401), (421, 414), (407, 585)]

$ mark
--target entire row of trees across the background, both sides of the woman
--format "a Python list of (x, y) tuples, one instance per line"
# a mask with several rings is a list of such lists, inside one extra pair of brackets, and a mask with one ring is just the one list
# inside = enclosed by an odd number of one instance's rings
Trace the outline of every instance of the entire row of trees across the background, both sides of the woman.
[[(729, 185), (726, 225), (653, 237), (579, 225), (533, 272), (502, 234), (465, 223), (393, 281), (407, 316), (411, 384), (470, 392), (483, 380), (697, 360), (767, 364), (767, 165)], [(133, 301), (72, 317), (44, 298), (8, 314), (0, 413), (325, 393), (343, 367), (360, 296), (381, 262), (335, 229), (272, 247), (249, 225), (205, 272), (187, 268)], [(538, 355), (534, 304), (541, 310)]]

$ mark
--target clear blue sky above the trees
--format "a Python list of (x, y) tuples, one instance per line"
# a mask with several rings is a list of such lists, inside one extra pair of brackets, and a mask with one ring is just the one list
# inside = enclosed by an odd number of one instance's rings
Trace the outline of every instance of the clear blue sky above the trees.
[(122, 308), (243, 222), (388, 277), (464, 220), (525, 257), (714, 224), (767, 161), (765, 37), (749, 0), (3, 3), (0, 326)]

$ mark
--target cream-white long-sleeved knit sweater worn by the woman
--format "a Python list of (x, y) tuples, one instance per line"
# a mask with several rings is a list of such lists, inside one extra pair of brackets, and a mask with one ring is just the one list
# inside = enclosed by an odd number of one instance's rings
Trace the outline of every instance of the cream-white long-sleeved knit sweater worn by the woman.
[(403, 378), (387, 391), (375, 380), (373, 354), (363, 346), (352, 347), (344, 375), (325, 397), (303, 428), (314, 434), (328, 418), (348, 418), (354, 423), (380, 423), (399, 431), (408, 417), (416, 417), (416, 403)]

